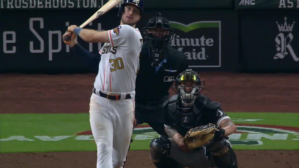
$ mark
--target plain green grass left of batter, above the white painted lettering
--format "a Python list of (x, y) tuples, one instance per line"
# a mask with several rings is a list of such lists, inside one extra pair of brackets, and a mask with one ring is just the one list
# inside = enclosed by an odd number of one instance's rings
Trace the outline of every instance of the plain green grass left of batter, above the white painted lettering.
[(4, 135), (74, 135), (90, 129), (88, 113), (0, 114), (0, 122), (0, 137)]

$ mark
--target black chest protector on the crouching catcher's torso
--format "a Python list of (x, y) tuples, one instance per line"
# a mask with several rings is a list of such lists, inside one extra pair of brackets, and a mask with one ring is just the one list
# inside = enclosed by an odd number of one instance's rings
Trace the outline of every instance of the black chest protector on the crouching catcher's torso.
[(201, 118), (200, 110), (196, 106), (193, 106), (190, 109), (180, 109), (176, 106), (176, 102), (174, 102), (170, 103), (168, 107), (168, 112), (173, 123), (177, 126), (179, 133), (183, 136), (186, 135), (189, 129), (196, 127)]

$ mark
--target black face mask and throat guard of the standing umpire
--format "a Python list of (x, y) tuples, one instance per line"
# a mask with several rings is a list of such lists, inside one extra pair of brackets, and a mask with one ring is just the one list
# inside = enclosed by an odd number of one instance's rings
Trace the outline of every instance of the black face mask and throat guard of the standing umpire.
[[(155, 29), (166, 30), (167, 33), (151, 32)], [(169, 45), (169, 42), (173, 38), (173, 29), (170, 27), (167, 19), (162, 17), (161, 13), (157, 13), (157, 16), (152, 17), (147, 22), (147, 25), (143, 28), (144, 38), (147, 39), (149, 47), (149, 54), (152, 57), (152, 66), (159, 66), (164, 56), (164, 49)]]

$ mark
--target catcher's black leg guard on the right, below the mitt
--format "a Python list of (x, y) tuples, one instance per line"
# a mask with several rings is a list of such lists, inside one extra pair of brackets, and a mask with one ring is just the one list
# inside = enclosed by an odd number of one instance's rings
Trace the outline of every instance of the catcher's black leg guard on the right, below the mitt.
[(223, 139), (214, 142), (210, 149), (211, 157), (214, 163), (219, 168), (238, 168), (237, 157), (230, 143)]

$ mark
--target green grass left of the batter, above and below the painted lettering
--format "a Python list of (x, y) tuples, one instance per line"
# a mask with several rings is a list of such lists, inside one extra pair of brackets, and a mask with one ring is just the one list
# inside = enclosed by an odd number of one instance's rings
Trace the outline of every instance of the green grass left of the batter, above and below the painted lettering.
[(1, 141), (0, 152), (93, 151), (94, 140), (42, 141), (34, 136), (75, 136), (90, 130), (89, 114), (0, 114), (0, 139), (25, 136), (34, 141)]

